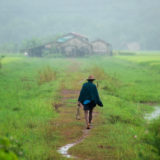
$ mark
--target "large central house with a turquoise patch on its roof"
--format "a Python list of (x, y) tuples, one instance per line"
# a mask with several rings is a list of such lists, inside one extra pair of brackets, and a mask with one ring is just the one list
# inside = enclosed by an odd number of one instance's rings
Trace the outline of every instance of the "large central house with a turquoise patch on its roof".
[(59, 53), (66, 56), (84, 56), (92, 53), (92, 45), (88, 38), (77, 33), (68, 33), (59, 37), (56, 48)]

